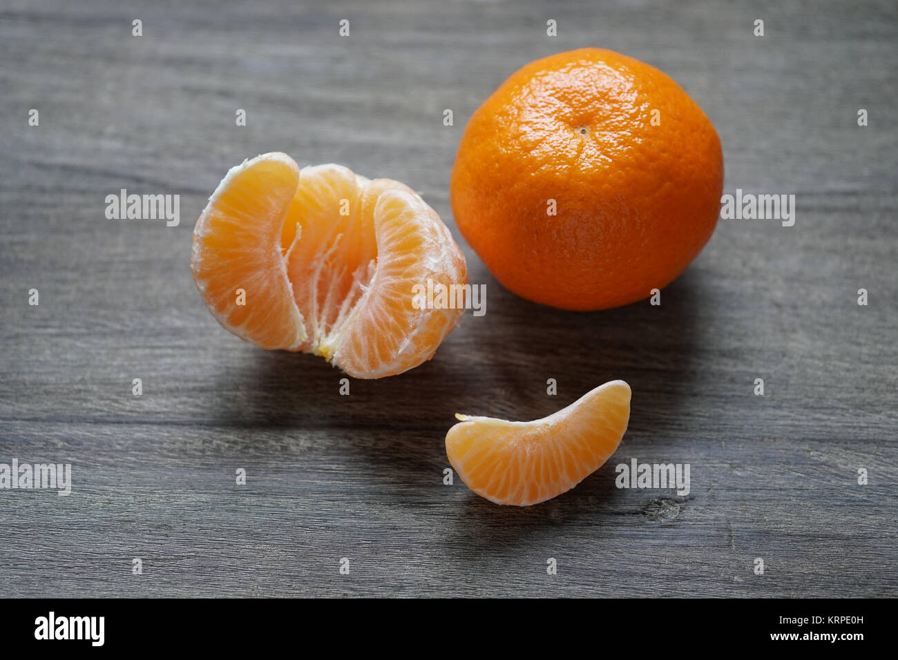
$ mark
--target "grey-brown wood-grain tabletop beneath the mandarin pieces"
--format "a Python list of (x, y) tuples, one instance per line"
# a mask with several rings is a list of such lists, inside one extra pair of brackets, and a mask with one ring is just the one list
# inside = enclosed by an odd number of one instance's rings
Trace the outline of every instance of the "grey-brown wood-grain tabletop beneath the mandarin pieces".
[[(74, 480), (0, 490), (0, 595), (898, 595), (893, 2), (302, 5), (0, 5), (0, 462)], [(459, 237), (486, 315), (348, 397), (213, 321), (190, 233), (228, 167), (282, 150), (403, 180), (458, 237), (471, 112), (588, 45), (673, 75), (726, 191), (796, 194), (795, 226), (721, 221), (660, 307), (600, 313), (510, 295)], [(180, 194), (180, 226), (107, 220), (121, 188)], [(629, 432), (573, 491), (522, 510), (443, 485), (455, 411), (541, 417), (614, 378)], [(690, 463), (690, 495), (615, 488), (631, 457)]]

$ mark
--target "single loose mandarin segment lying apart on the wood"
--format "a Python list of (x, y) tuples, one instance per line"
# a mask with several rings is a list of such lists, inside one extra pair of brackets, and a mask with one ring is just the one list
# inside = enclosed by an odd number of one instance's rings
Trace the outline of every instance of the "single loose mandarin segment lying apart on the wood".
[(530, 506), (567, 492), (602, 467), (629, 421), (629, 385), (612, 381), (532, 422), (455, 415), (446, 434), (453, 470), (481, 497)]

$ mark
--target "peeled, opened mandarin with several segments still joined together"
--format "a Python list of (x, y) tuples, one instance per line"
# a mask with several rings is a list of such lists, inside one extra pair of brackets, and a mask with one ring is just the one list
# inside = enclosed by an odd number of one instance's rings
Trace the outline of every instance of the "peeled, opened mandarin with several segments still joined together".
[(324, 356), (356, 378), (432, 357), (463, 308), (427, 309), (416, 285), (465, 286), (436, 212), (399, 181), (262, 154), (230, 170), (193, 233), (190, 268), (226, 330)]

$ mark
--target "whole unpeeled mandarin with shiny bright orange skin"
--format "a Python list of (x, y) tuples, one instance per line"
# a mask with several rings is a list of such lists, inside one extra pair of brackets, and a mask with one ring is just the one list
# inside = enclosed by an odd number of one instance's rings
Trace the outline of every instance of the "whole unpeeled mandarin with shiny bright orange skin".
[(599, 310), (682, 273), (717, 224), (723, 173), (717, 132), (678, 84), (582, 48), (524, 66), (474, 112), (450, 192), (504, 286)]

